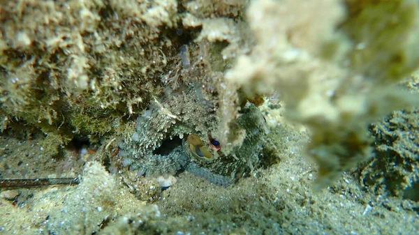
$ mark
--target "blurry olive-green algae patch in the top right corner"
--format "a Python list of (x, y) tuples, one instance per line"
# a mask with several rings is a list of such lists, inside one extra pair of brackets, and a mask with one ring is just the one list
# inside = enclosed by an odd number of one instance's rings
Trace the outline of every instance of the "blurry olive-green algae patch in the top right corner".
[(349, 59), (357, 73), (380, 82), (397, 81), (418, 68), (418, 2), (346, 0), (341, 29), (354, 45)]

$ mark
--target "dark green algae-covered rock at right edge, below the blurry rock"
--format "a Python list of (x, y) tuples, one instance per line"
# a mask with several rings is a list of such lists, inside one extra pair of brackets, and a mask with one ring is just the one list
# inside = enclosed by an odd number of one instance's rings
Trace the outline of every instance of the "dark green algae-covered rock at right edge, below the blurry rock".
[[(362, 168), (364, 185), (403, 196), (419, 180), (419, 112), (395, 111), (371, 128), (376, 156)], [(417, 194), (417, 188), (416, 194)], [(410, 196), (408, 196), (409, 198)], [(417, 197), (413, 197), (417, 199)]]

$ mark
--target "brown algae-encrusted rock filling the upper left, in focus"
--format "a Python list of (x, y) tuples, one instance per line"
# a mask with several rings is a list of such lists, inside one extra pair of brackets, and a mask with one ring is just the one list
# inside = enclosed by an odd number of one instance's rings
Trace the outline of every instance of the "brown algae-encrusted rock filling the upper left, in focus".
[(1, 130), (119, 133), (177, 63), (176, 1), (24, 0), (1, 11)]

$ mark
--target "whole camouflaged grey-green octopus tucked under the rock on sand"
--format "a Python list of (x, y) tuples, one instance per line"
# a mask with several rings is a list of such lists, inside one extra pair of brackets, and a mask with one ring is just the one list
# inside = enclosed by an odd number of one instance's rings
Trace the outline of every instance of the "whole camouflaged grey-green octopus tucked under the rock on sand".
[(145, 176), (186, 171), (217, 185), (230, 185), (264, 162), (267, 125), (256, 107), (263, 98), (237, 96), (240, 111), (228, 123), (229, 135), (235, 135), (236, 142), (221, 142), (226, 130), (221, 128), (217, 111), (220, 100), (226, 98), (220, 91), (231, 90), (223, 88), (222, 76), (217, 78), (216, 73), (207, 79), (210, 72), (200, 66), (210, 68), (196, 63), (176, 73), (207, 83), (173, 82), (173, 89), (167, 86), (163, 96), (154, 98), (150, 109), (138, 116), (135, 131), (118, 144), (122, 167)]

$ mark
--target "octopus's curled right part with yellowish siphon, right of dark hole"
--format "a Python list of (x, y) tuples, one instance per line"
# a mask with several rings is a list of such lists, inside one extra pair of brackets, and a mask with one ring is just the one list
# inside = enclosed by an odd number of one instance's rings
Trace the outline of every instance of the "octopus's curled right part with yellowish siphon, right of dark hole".
[(206, 137), (189, 135), (182, 144), (189, 157), (186, 170), (218, 185), (229, 185), (253, 172), (260, 165), (267, 133), (265, 120), (257, 107), (249, 105), (242, 109), (242, 115), (233, 125), (245, 134), (242, 144), (228, 154), (211, 133)]

